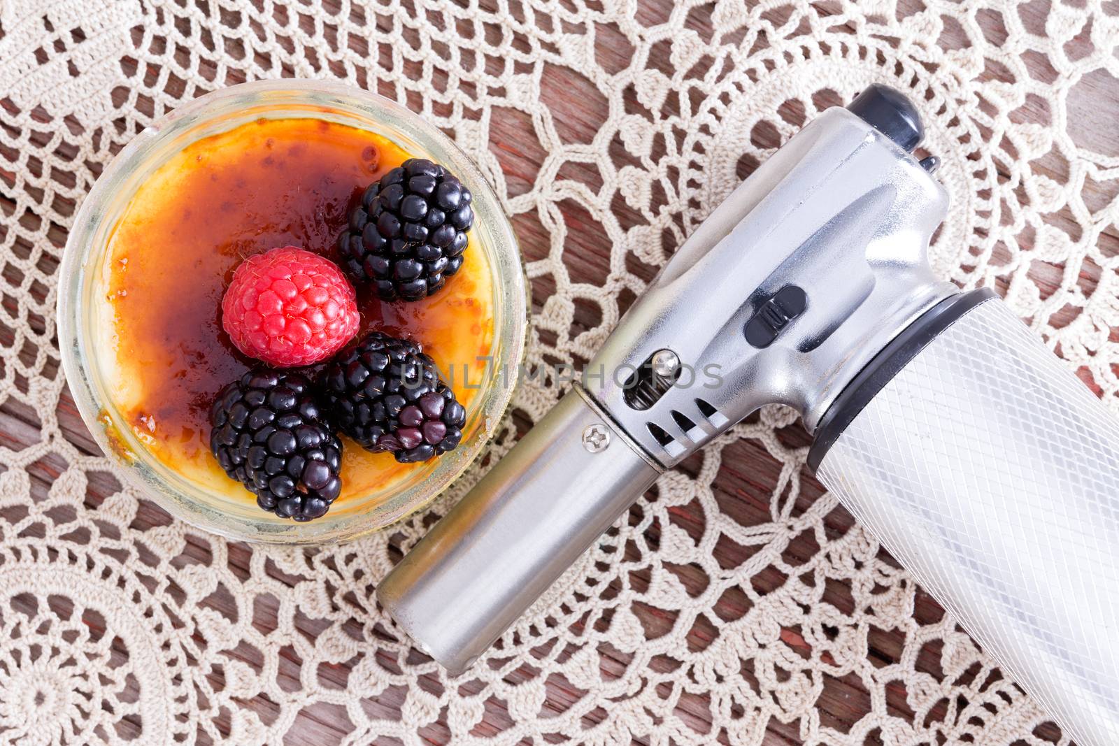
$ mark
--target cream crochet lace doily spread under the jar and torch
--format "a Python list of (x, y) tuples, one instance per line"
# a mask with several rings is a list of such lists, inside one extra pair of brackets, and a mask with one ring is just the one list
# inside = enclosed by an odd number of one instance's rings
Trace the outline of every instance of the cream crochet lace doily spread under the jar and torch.
[[(154, 117), (262, 77), (377, 91), (481, 164), (532, 278), (530, 365), (587, 360), (821, 108), (908, 89), (953, 205), (935, 268), (997, 287), (1116, 406), (1116, 3), (462, 4), (0, 2), (0, 742), (1066, 744), (808, 475), (787, 410), (665, 474), (457, 679), (373, 591), (482, 465), (320, 550), (122, 487), (59, 370), (67, 227)], [(521, 388), (491, 455), (558, 393)]]

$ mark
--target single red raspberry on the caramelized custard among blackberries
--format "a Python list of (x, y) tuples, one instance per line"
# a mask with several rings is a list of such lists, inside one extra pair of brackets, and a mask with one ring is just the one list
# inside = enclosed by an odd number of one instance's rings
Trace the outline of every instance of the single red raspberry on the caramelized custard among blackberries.
[(222, 299), (222, 325), (252, 358), (309, 366), (357, 333), (357, 298), (333, 262), (295, 246), (273, 248), (237, 267)]

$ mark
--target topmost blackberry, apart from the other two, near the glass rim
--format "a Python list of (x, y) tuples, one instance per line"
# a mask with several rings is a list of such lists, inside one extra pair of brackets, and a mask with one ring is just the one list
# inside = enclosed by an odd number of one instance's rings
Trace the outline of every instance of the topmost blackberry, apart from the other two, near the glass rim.
[(357, 282), (372, 282), (382, 300), (419, 301), (462, 266), (474, 221), (470, 190), (450, 171), (423, 158), (369, 185), (338, 237), (341, 265)]

